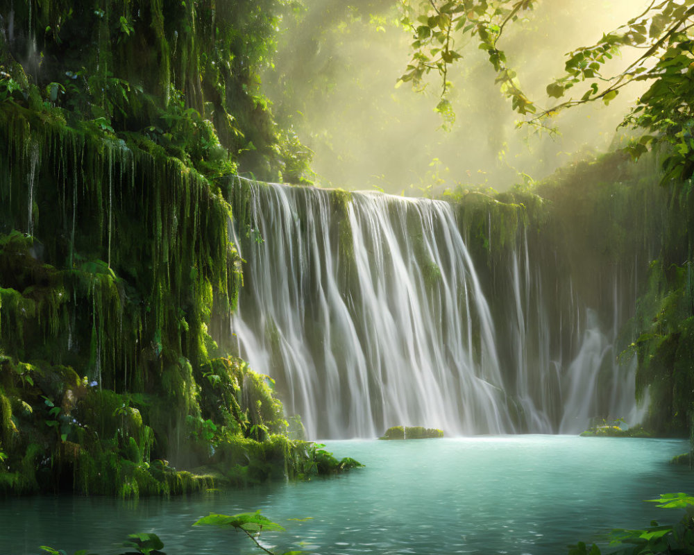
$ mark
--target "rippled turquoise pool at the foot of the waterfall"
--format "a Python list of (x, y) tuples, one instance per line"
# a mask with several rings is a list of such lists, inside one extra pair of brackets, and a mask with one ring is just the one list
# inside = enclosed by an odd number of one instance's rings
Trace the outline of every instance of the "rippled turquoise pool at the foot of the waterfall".
[(256, 509), (287, 529), (262, 536), (280, 553), (556, 555), (611, 527), (675, 522), (678, 511), (643, 499), (694, 491), (694, 473), (668, 464), (688, 450), (680, 440), (489, 436), (330, 441), (328, 449), (367, 466), (335, 479), (139, 502), (5, 499), (0, 555), (39, 545), (108, 555), (135, 531), (158, 533), (169, 555), (257, 554), (241, 533), (191, 526), (210, 512)]

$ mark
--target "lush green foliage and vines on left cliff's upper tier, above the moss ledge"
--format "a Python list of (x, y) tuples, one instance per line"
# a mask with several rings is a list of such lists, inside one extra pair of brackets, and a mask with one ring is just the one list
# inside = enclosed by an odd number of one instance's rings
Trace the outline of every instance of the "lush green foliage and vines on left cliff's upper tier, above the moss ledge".
[[(27, 0), (3, 14), (0, 103), (157, 145), (206, 176), (296, 180), (260, 92), (283, 0)], [(11, 32), (10, 32), (11, 28)]]

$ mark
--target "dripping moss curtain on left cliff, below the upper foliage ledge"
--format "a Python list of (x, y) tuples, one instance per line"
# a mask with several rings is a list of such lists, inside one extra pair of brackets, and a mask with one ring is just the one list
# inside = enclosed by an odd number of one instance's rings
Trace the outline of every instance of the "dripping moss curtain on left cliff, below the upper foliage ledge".
[[(26, 210), (10, 207), (0, 220), (0, 349), (12, 368), (33, 368), (9, 384), (33, 407), (20, 422), (26, 438), (22, 432), (16, 445), (3, 441), (10, 475), (23, 475), (19, 453), (29, 438), (49, 445), (40, 477), (6, 483), (45, 490), (63, 487), (72, 475), (81, 493), (126, 496), (205, 487), (208, 479), (175, 470), (153, 477), (147, 465), (152, 457), (190, 461), (196, 441), (186, 418), (211, 406), (199, 397), (197, 369), (210, 364), (217, 350), (212, 318), (228, 318), (241, 281), (228, 237), (230, 205), (160, 152), (103, 142), (61, 123), (38, 130), (27, 113), (1, 106), (0, 114), (8, 123), (0, 134), (19, 130), (5, 135), (1, 194), (26, 209), (22, 176), (31, 170), (35, 202), (52, 207), (42, 210), (49, 217), (36, 220), (31, 235), (17, 229), (26, 224), (17, 214)], [(17, 121), (23, 123), (10, 124)], [(38, 162), (21, 148), (23, 136), (41, 145)], [(210, 416), (226, 418), (218, 420), (225, 433), (263, 440), (283, 429), (281, 405), (264, 378), (235, 364), (224, 377), (237, 383), (234, 400), (225, 415)], [(84, 377), (78, 385), (71, 368)], [(28, 389), (19, 391), (21, 379), (32, 380)], [(58, 412), (49, 414), (53, 408)], [(127, 414), (138, 415), (139, 424)], [(115, 492), (114, 484), (123, 486)]]

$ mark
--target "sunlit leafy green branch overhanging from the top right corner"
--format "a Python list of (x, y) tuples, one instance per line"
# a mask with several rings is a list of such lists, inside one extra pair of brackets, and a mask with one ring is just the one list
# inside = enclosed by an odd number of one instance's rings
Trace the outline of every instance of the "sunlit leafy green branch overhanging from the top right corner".
[[(523, 123), (545, 126), (561, 110), (602, 101), (609, 103), (635, 82), (650, 84), (623, 120), (622, 126), (641, 131), (629, 145), (638, 158), (649, 148), (669, 145), (663, 180), (687, 180), (694, 174), (694, 1), (652, 0), (635, 17), (589, 46), (566, 54), (564, 73), (546, 87), (550, 106), (530, 99), (509, 65), (504, 33), (509, 26), (528, 26), (530, 12), (542, 9), (538, 0), (401, 0), (401, 22), (412, 31), (412, 60), (401, 76), (420, 86), (430, 73), (441, 79), (437, 110), (451, 111), (449, 71), (462, 60), (464, 49), (476, 43), (486, 51), (496, 72), (496, 85)], [(634, 61), (618, 71), (607, 62), (627, 49)], [(625, 56), (632, 60), (634, 56)], [(612, 65), (610, 66), (612, 67)]]

